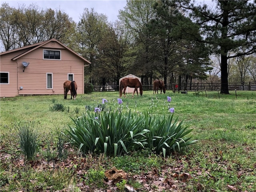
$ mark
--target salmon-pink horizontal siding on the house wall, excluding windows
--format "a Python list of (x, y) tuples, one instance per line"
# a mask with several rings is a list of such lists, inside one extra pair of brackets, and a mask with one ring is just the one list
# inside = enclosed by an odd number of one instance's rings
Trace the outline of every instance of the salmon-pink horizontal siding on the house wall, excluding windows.
[[(43, 59), (43, 50), (59, 50), (61, 59)], [(24, 50), (1, 55), (0, 71), (9, 72), (10, 79), (9, 84), (0, 85), (1, 97), (64, 94), (63, 83), (68, 80), (68, 74), (74, 74), (74, 80), (78, 86), (77, 93), (84, 94), (84, 60), (64, 46), (57, 42), (54, 42), (54, 46), (52, 46), (50, 42), (24, 54), (15, 61), (11, 60), (22, 53), (24, 53)], [(22, 62), (29, 62), (29, 65), (24, 69)], [(52, 88), (47, 88), (47, 73), (52, 74)]]

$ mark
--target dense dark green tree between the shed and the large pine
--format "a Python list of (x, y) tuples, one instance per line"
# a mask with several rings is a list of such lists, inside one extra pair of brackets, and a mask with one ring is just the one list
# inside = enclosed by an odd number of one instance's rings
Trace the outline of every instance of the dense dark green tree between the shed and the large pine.
[[(158, 37), (154, 47), (161, 61), (158, 71), (164, 77), (174, 72), (188, 78), (206, 78), (208, 51), (204, 44), (196, 42), (186, 33), (200, 40), (199, 28), (182, 15), (175, 1), (161, 1), (154, 5), (157, 16), (151, 23), (152, 36)], [(172, 79), (172, 78), (171, 78)]]

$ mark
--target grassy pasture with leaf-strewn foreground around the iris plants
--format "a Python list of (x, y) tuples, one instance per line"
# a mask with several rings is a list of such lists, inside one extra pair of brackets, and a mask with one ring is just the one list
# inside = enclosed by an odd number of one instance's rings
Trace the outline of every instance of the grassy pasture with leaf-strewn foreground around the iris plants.
[[(137, 191), (256, 191), (255, 91), (226, 95), (166, 90), (166, 94), (131, 95), (122, 98), (122, 110), (160, 116), (173, 107), (174, 117), (193, 129), (192, 140), (200, 141), (165, 159), (146, 150), (115, 158), (82, 157), (66, 144), (66, 158), (60, 161), (58, 136), (72, 125), (71, 118), (94, 110), (103, 98), (108, 101), (106, 107), (117, 108), (119, 93), (93, 92), (76, 100), (64, 100), (63, 95), (1, 98), (0, 191), (124, 191), (124, 184)], [(62, 104), (65, 110), (51, 110), (54, 104)], [(34, 122), (40, 135), (40, 150), (31, 162), (20, 153), (16, 130), (20, 122)], [(105, 182), (102, 172), (113, 166), (127, 172), (128, 180), (114, 186)], [(85, 180), (88, 176), (90, 181)]]

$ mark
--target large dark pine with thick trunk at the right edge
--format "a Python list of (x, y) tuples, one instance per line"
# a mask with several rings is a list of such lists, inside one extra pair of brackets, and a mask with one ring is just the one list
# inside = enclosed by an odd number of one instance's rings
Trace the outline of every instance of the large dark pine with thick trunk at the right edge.
[[(182, 8), (200, 26), (204, 42), (212, 53), (221, 55), (221, 93), (228, 91), (228, 59), (255, 52), (256, 2), (248, 0), (216, 1), (216, 8), (188, 1)], [(229, 54), (232, 52), (234, 54)]]

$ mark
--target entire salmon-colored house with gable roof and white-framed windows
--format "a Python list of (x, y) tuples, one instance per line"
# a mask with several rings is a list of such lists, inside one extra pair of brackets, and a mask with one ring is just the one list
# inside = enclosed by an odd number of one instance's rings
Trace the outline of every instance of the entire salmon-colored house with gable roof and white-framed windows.
[(77, 94), (84, 94), (84, 66), (88, 64), (56, 39), (2, 52), (0, 97), (64, 94), (66, 80), (75, 80)]

